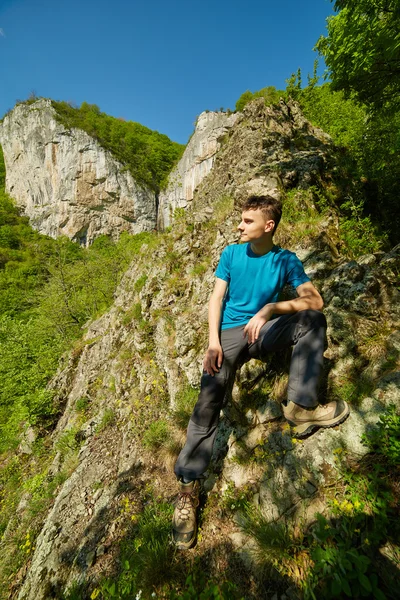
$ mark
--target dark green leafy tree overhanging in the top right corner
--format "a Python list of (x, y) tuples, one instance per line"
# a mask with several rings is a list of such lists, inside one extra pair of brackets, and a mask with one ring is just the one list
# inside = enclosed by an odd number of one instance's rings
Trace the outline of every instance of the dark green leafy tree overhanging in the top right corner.
[(398, 0), (336, 0), (328, 35), (316, 48), (333, 89), (375, 110), (400, 106), (400, 6)]

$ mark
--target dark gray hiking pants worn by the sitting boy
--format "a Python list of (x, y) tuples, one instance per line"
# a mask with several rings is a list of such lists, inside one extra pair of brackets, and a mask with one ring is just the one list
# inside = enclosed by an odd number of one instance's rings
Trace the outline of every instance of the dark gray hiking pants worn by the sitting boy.
[(187, 429), (187, 439), (175, 465), (180, 479), (198, 479), (207, 470), (225, 393), (233, 383), (236, 367), (251, 358), (265, 359), (268, 352), (293, 347), (288, 400), (312, 408), (318, 404), (317, 386), (326, 335), (325, 316), (316, 310), (282, 315), (265, 323), (258, 340), (249, 344), (244, 325), (224, 329), (222, 367), (214, 376), (205, 371), (201, 390)]

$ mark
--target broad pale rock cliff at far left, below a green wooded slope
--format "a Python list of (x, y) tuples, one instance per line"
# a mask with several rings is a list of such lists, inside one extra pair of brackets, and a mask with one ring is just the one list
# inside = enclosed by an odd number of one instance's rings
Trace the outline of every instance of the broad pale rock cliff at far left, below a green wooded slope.
[(65, 129), (50, 100), (20, 104), (0, 124), (6, 190), (32, 226), (88, 245), (99, 235), (156, 226), (155, 194), (80, 129)]

